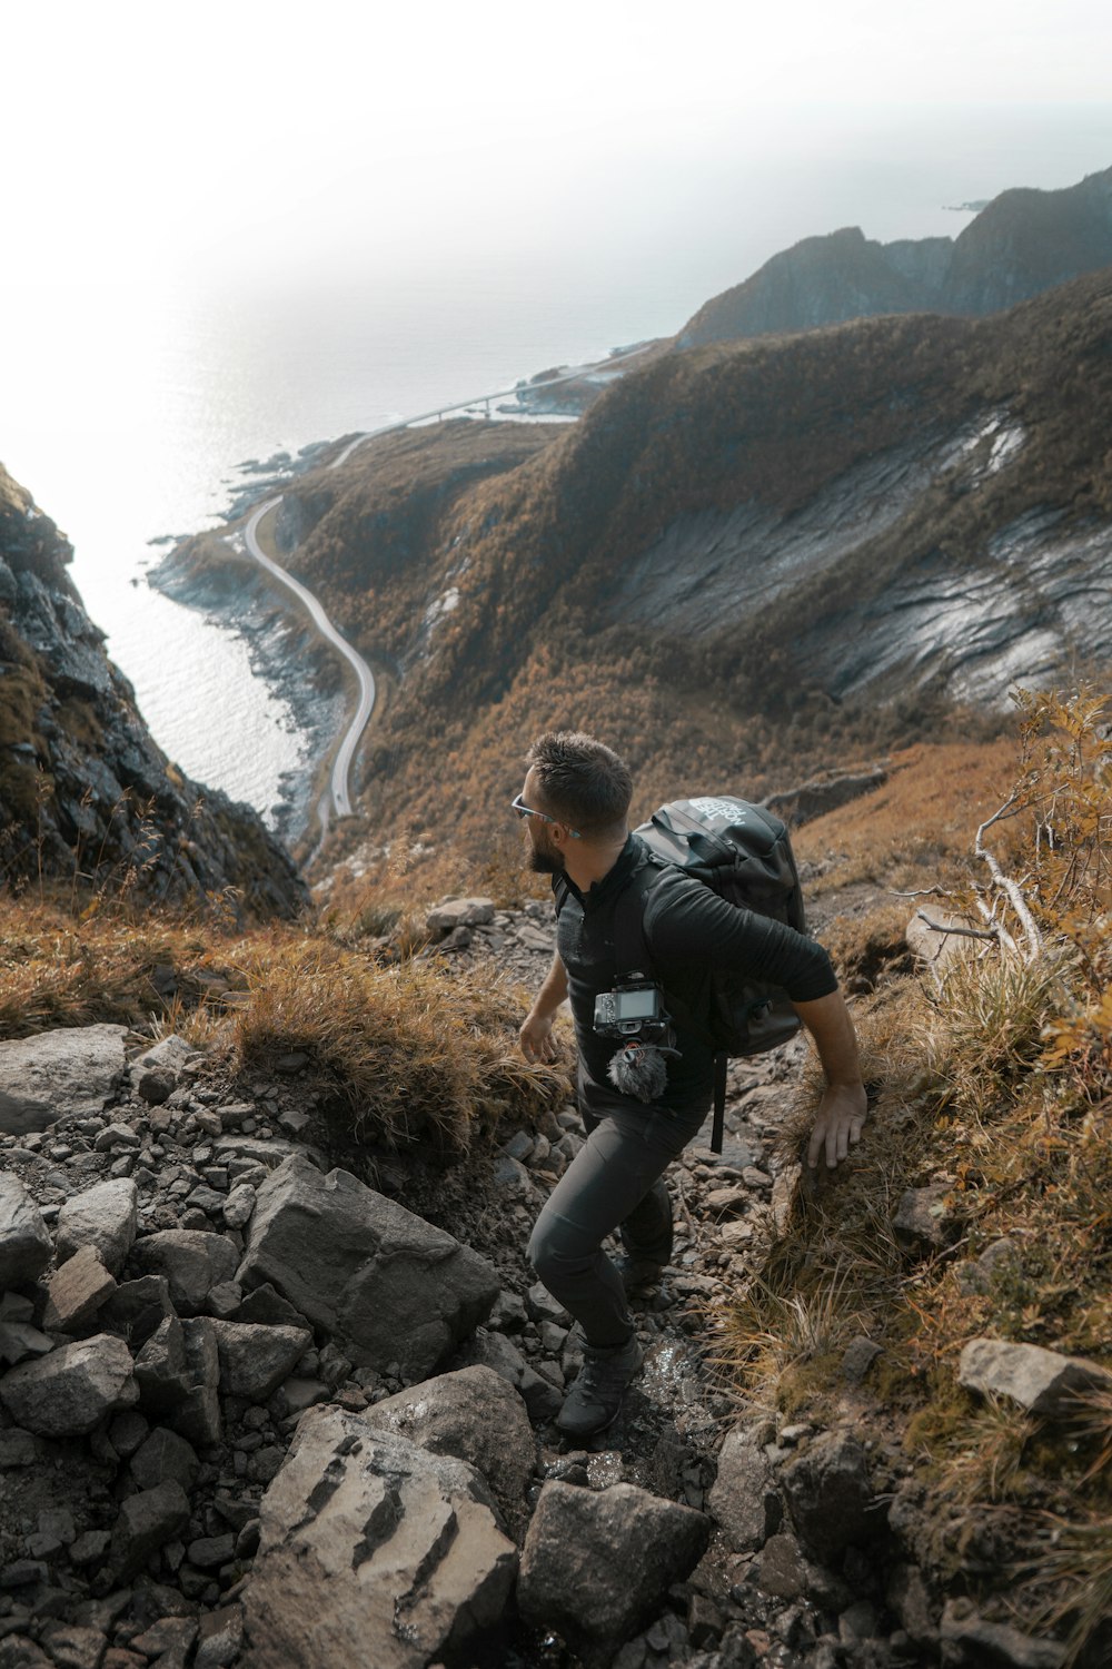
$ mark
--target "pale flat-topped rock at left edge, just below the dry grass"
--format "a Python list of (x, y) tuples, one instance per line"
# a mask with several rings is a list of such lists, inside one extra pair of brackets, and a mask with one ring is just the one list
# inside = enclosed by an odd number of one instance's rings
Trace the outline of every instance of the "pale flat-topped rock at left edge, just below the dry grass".
[(127, 1068), (125, 1036), (127, 1026), (73, 1026), (0, 1043), (0, 1132), (103, 1112)]

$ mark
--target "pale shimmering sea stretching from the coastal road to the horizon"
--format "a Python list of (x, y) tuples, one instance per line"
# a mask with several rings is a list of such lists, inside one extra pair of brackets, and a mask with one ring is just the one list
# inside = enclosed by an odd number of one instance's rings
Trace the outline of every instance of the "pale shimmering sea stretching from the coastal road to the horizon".
[[(358, 277), (283, 289), (190, 284), (75, 287), (3, 295), (0, 459), (75, 546), (73, 579), (108, 653), (135, 684), (160, 746), (202, 783), (267, 813), (283, 771), (305, 759), (288, 704), (252, 674), (242, 639), (152, 591), (145, 567), (168, 534), (213, 526), (237, 466), (512, 386), (553, 364), (675, 332), (710, 295), (799, 237), (860, 224), (867, 235), (957, 235), (944, 204), (1012, 184), (1065, 185), (1107, 165), (1074, 159), (1032, 179), (924, 152), (824, 177), (750, 179), (749, 200), (707, 180), (687, 220), (662, 229), (652, 189), (532, 245), (402, 274), (383, 255)], [(1019, 175), (1019, 177), (1017, 177)], [(724, 207), (725, 202), (725, 207)], [(533, 215), (533, 220), (537, 215)], [(667, 234), (667, 235), (662, 235)]]

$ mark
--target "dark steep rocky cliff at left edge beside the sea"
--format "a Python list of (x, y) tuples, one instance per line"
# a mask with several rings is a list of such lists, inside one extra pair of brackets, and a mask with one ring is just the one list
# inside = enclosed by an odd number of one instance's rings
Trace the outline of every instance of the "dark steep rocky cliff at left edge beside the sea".
[(152, 741), (70, 557), (0, 466), (0, 875), (173, 903), (233, 888), (252, 915), (293, 915), (303, 883), (258, 816), (182, 776)]

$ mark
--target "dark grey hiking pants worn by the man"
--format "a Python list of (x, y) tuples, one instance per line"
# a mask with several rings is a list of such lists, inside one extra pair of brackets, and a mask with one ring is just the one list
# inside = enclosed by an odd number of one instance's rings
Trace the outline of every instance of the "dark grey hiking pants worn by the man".
[(667, 1263), (672, 1200), (662, 1177), (697, 1135), (707, 1103), (682, 1113), (640, 1107), (580, 1071), (587, 1142), (552, 1190), (528, 1242), (528, 1260), (589, 1345), (622, 1345), (634, 1332), (622, 1277), (602, 1250), (620, 1228), (637, 1258)]

